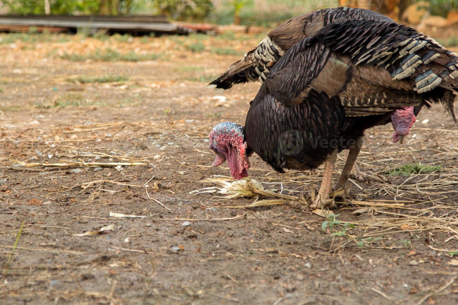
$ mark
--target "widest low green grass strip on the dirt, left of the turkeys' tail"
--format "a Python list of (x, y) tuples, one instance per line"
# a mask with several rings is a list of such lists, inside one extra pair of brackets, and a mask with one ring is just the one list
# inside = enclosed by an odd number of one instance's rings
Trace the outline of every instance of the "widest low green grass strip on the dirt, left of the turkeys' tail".
[(65, 52), (60, 56), (61, 59), (67, 59), (71, 61), (86, 61), (88, 59), (95, 61), (142, 61), (142, 60), (155, 60), (158, 58), (156, 54), (136, 54), (131, 51), (127, 54), (121, 54), (112, 48), (106, 48), (104, 50), (98, 48), (94, 53), (91, 54), (69, 54)]

